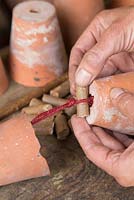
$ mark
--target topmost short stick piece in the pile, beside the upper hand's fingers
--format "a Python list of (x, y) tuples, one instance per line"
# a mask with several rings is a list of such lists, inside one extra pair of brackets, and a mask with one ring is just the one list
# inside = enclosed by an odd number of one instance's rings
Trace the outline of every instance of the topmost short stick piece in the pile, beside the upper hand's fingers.
[(54, 97), (65, 97), (70, 93), (69, 80), (63, 82), (61, 85), (57, 86), (50, 91), (50, 95)]

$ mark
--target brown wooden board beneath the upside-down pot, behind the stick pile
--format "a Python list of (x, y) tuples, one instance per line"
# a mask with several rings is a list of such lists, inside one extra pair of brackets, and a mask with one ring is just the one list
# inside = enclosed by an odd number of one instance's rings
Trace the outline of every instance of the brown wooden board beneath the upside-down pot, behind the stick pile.
[(0, 119), (24, 107), (33, 97), (40, 97), (43, 93), (48, 93), (66, 79), (67, 74), (64, 74), (43, 88), (24, 87), (11, 81), (6, 93), (0, 96)]

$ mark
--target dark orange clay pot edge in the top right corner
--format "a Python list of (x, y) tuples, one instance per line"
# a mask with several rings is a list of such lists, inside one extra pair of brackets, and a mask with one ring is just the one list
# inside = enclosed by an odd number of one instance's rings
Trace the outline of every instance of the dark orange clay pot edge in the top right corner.
[(110, 4), (112, 8), (131, 5), (134, 5), (134, 0), (112, 0)]

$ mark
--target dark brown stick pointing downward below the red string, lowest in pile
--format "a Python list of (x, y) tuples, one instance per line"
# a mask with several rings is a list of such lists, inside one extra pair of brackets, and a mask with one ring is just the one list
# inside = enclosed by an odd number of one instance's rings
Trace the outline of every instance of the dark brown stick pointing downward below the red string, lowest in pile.
[(70, 130), (68, 127), (68, 122), (66, 116), (62, 113), (59, 113), (55, 118), (55, 129), (57, 139), (64, 140), (69, 135)]

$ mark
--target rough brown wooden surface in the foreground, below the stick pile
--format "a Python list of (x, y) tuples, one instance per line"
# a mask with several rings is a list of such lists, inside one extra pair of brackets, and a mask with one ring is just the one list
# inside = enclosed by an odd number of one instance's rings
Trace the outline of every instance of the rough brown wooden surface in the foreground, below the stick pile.
[(122, 188), (86, 159), (73, 135), (62, 142), (54, 136), (40, 137), (40, 142), (51, 176), (0, 187), (0, 200), (134, 199), (133, 188)]

